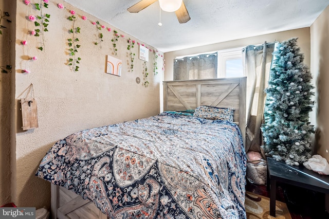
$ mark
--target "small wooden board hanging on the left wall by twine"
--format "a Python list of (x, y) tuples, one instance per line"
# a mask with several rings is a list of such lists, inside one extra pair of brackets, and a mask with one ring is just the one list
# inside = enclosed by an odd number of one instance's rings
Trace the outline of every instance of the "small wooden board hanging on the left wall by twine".
[[(38, 110), (36, 107), (36, 100), (34, 99), (33, 84), (31, 84), (28, 88), (29, 90), (26, 96), (21, 99), (23, 130), (29, 130), (39, 126)], [(31, 94), (31, 97), (28, 97), (29, 94)]]

